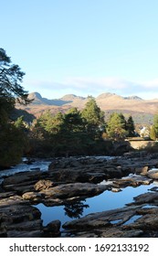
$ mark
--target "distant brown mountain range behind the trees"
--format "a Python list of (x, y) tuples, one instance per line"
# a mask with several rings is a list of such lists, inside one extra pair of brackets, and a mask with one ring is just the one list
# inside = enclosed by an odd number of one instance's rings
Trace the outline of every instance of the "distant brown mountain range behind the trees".
[[(39, 116), (42, 112), (50, 110), (53, 113), (66, 112), (72, 107), (83, 109), (88, 98), (67, 94), (60, 99), (48, 100), (43, 98), (40, 93), (32, 92), (28, 96), (34, 101), (27, 105), (16, 105), (17, 109), (23, 109), (27, 112)], [(143, 100), (138, 96), (122, 97), (115, 93), (101, 93), (95, 98), (100, 109), (108, 117), (111, 112), (122, 112), (125, 115), (132, 115), (136, 123), (153, 123), (153, 114), (158, 112), (158, 99)]]

